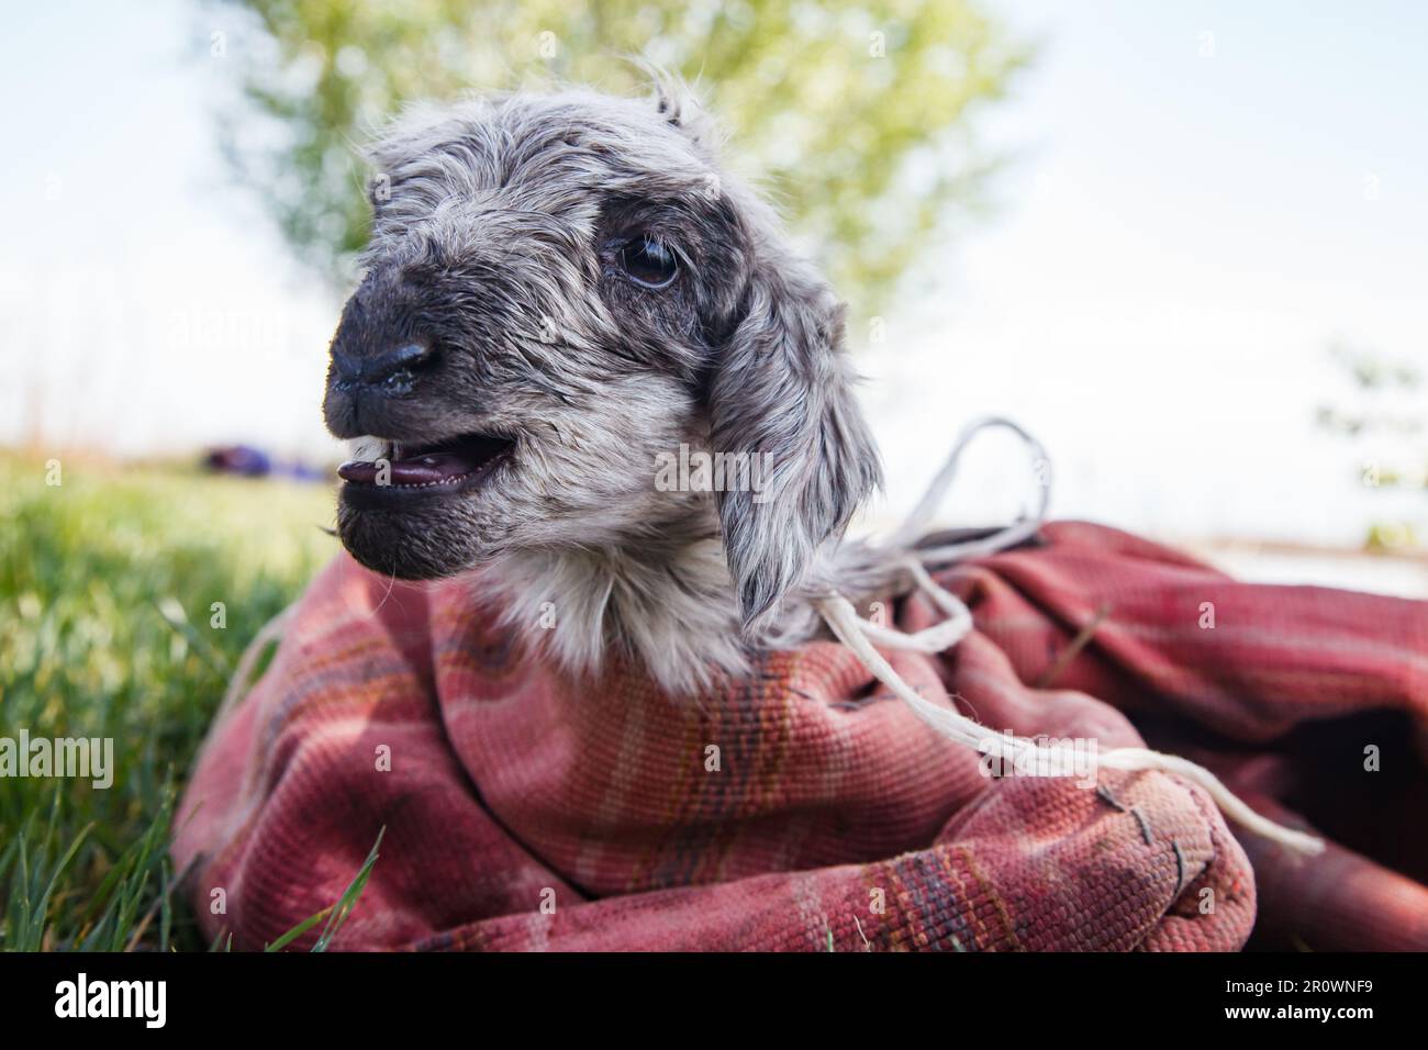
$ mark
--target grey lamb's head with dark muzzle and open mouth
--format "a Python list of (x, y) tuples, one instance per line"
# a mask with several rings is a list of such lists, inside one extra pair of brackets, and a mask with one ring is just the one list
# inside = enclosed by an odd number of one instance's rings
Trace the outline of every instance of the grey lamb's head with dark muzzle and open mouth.
[[(436, 579), (523, 549), (638, 554), (703, 509), (744, 624), (770, 617), (878, 463), (838, 301), (721, 173), (705, 119), (664, 90), (510, 94), (410, 113), (371, 157), (324, 403), (376, 449), (341, 471), (347, 549)], [(760, 459), (670, 491), (681, 446)]]

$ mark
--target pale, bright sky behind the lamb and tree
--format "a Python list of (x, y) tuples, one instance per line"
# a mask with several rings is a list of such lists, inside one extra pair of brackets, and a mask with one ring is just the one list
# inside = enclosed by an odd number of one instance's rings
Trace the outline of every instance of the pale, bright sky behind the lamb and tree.
[[(930, 254), (930, 290), (864, 356), (890, 464), (874, 519), (1000, 411), (1050, 447), (1061, 514), (1321, 541), (1422, 520), (1355, 484), (1395, 449), (1312, 416), (1349, 393), (1335, 336), (1428, 370), (1428, 6), (988, 7), (1042, 47), (980, 124), (1012, 159), (997, 216)], [(213, 29), (244, 46), (227, 9), (181, 0), (7, 14), (0, 440), (331, 453), (337, 304), (227, 183)], [(1015, 506), (1008, 456), (968, 464), (950, 511)]]

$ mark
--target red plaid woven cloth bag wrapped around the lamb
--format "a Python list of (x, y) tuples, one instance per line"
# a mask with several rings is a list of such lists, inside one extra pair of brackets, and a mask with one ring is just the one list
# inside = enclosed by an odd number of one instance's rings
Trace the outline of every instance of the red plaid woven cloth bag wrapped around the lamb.
[[(468, 583), (343, 557), (184, 796), (174, 857), (201, 924), (276, 940), (386, 827), (334, 947), (1228, 950), (1258, 879), (1257, 944), (1428, 949), (1409, 877), (1428, 873), (1428, 604), (1241, 584), (1080, 523), (940, 579), (977, 629), (942, 657), (891, 654), (925, 697), (1101, 749), (1141, 743), (1131, 716), (1341, 844), (1241, 847), (1158, 771), (990, 780), (834, 643), (700, 703), (625, 667), (573, 681)], [(898, 621), (931, 616), (912, 599)]]

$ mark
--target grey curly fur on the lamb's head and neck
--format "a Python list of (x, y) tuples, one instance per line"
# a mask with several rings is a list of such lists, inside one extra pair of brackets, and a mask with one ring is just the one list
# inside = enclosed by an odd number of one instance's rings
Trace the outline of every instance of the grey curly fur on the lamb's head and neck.
[[(810, 599), (831, 586), (891, 583), (874, 551), (840, 544), (881, 483), (843, 307), (718, 146), (668, 81), (653, 100), (563, 90), (407, 111), (370, 153), (366, 279), (334, 349), (421, 339), (440, 361), (360, 417), (330, 373), (324, 403), (340, 437), (516, 443), (474, 493), (400, 511), (343, 500), (360, 561), (471, 573), (565, 669), (623, 651), (671, 694), (813, 636)], [(677, 253), (670, 287), (621, 270), (633, 231)], [(681, 443), (764, 454), (765, 491), (657, 490), (657, 457)]]

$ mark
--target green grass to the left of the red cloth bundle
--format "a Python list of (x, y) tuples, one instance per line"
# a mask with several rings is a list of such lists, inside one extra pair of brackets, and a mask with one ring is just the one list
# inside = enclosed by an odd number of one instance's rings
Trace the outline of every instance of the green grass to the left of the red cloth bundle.
[(243, 649), (336, 554), (333, 496), (61, 466), (0, 454), (0, 737), (111, 737), (116, 773), (0, 777), (0, 950), (203, 950), (170, 891), (176, 799)]

